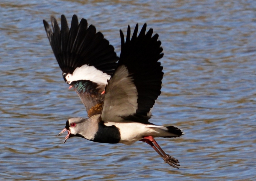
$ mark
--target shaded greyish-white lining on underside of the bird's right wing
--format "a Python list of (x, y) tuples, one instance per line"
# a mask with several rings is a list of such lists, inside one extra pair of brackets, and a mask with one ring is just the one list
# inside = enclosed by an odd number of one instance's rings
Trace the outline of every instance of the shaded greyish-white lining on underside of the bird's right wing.
[(122, 121), (121, 116), (133, 115), (138, 107), (138, 92), (126, 66), (115, 71), (105, 90), (101, 118), (105, 122)]

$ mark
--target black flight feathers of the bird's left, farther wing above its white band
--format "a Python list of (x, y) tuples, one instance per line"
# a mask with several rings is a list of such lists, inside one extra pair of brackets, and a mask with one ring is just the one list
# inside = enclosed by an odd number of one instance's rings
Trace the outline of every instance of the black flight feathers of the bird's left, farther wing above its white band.
[(61, 15), (61, 30), (53, 16), (52, 29), (45, 20), (43, 22), (63, 73), (72, 74), (77, 67), (87, 64), (109, 75), (113, 74), (118, 61), (114, 47), (104, 39), (101, 32), (96, 32), (93, 25), (88, 27), (86, 19), (82, 19), (79, 24), (77, 16), (73, 15), (69, 29), (65, 16)]

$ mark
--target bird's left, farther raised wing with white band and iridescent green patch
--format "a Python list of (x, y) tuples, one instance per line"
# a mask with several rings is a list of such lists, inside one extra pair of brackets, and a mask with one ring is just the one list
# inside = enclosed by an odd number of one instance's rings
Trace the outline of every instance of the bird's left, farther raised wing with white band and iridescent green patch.
[(52, 29), (43, 20), (52, 50), (62, 70), (64, 80), (81, 98), (88, 116), (100, 114), (107, 81), (113, 74), (118, 57), (109, 41), (93, 25), (88, 27), (86, 19), (80, 24), (73, 15), (69, 29), (67, 20), (61, 15), (61, 29), (51, 16)]

